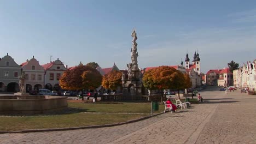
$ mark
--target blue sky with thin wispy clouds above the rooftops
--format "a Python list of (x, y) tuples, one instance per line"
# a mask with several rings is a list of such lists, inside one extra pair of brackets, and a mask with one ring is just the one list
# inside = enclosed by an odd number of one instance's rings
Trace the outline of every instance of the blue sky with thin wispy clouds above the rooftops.
[(136, 28), (139, 67), (180, 64), (196, 50), (206, 73), (256, 59), (255, 22), (256, 1), (0, 0), (0, 57), (126, 69)]

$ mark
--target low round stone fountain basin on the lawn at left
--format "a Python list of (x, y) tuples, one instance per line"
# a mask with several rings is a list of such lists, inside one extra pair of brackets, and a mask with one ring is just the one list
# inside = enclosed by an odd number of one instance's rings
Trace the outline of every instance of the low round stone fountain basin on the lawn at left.
[(51, 95), (0, 96), (0, 114), (38, 114), (66, 109), (67, 97)]

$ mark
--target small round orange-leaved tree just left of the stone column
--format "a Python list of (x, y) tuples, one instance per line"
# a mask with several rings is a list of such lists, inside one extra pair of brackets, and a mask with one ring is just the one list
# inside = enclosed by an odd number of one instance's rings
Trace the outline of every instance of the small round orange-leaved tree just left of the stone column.
[(122, 75), (121, 71), (113, 70), (103, 76), (101, 85), (107, 89), (117, 90), (122, 85)]

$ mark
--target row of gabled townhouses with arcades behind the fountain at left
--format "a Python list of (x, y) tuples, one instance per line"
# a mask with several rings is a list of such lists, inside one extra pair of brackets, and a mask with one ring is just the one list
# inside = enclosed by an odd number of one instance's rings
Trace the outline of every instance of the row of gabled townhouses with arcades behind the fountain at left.
[(65, 70), (67, 68), (59, 58), (54, 62), (40, 65), (33, 56), (19, 65), (7, 53), (0, 58), (0, 91), (19, 92), (19, 76), (23, 72), (26, 77), (26, 92), (38, 91), (40, 88), (58, 91), (59, 79)]

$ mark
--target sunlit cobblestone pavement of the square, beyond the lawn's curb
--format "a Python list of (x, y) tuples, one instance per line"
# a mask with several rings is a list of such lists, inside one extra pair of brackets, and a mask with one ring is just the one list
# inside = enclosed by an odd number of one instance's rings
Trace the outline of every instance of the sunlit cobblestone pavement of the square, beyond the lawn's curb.
[(0, 143), (256, 143), (256, 95), (202, 92), (177, 113), (108, 128), (0, 134)]

